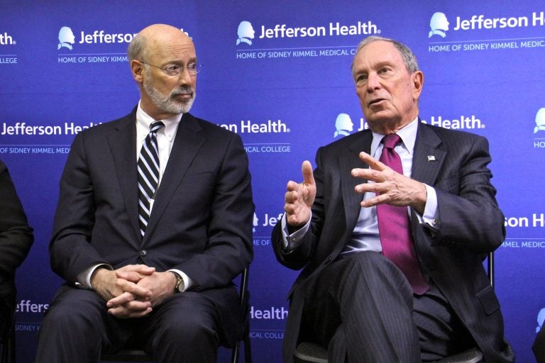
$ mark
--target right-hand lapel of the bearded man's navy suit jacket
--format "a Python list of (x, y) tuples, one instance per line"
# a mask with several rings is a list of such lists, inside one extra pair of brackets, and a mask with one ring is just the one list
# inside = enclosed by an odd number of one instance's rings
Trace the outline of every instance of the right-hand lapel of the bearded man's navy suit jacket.
[(153, 203), (153, 209), (142, 245), (153, 234), (153, 230), (155, 230), (158, 221), (165, 212), (165, 208), (170, 199), (172, 199), (172, 195), (184, 178), (187, 169), (189, 169), (197, 152), (199, 152), (204, 140), (207, 139), (200, 132), (201, 130), (202, 128), (199, 123), (189, 113), (185, 113), (182, 116), (176, 132), (174, 145), (172, 145), (172, 150), (168, 158), (165, 174), (163, 174), (161, 184), (155, 194), (155, 202)]

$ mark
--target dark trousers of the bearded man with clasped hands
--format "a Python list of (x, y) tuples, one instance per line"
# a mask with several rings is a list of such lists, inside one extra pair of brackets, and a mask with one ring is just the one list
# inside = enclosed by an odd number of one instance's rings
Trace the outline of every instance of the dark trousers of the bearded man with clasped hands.
[(63, 286), (43, 318), (36, 363), (96, 363), (128, 342), (160, 363), (216, 362), (214, 304), (197, 292), (167, 298), (145, 318), (119, 319), (94, 291)]

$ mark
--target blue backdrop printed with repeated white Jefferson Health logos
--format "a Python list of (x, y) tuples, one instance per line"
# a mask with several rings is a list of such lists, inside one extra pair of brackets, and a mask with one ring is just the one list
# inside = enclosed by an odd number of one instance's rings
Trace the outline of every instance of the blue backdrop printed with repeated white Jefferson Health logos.
[(18, 362), (33, 362), (41, 317), (60, 284), (48, 240), (67, 151), (80, 130), (136, 105), (125, 52), (152, 23), (193, 38), (204, 68), (192, 113), (240, 134), (248, 151), (255, 362), (280, 362), (285, 295), (296, 276), (270, 247), (285, 184), (335, 140), (339, 114), (353, 123), (346, 133), (365, 127), (350, 66), (358, 42), (373, 34), (401, 40), (419, 58), (424, 121), (490, 140), (507, 225), (495, 289), (517, 361), (534, 361), (530, 347), (545, 315), (543, 1), (2, 0), (0, 14), (0, 158), (35, 228), (17, 273)]

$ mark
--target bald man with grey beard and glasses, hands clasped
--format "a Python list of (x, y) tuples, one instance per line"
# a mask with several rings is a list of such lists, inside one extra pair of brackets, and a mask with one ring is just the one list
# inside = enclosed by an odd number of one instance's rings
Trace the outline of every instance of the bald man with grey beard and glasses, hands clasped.
[(216, 362), (242, 330), (231, 280), (253, 257), (254, 206), (241, 138), (189, 114), (200, 66), (180, 29), (148, 26), (128, 60), (138, 106), (79, 133), (62, 174), (50, 260), (66, 282), (38, 363), (128, 345), (156, 362)]

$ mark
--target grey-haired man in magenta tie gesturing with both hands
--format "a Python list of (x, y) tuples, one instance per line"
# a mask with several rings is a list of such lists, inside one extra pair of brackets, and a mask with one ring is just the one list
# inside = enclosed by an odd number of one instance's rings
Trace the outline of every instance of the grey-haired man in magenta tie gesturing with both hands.
[(477, 345), (512, 362), (483, 256), (505, 237), (485, 138), (419, 122), (424, 74), (411, 50), (363, 40), (353, 79), (369, 130), (302, 165), (272, 233), (303, 269), (290, 291), (284, 361), (297, 341), (329, 362), (422, 362)]

